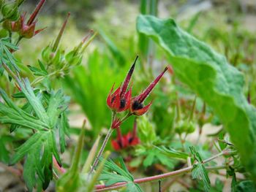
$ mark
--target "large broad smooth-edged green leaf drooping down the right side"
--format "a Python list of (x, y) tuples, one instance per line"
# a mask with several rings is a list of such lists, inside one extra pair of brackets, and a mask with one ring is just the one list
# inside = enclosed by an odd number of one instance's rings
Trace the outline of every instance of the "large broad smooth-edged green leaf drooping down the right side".
[(170, 58), (176, 76), (221, 118), (241, 160), (256, 180), (256, 110), (243, 94), (244, 77), (224, 56), (179, 28), (174, 20), (140, 15), (138, 32), (154, 39)]

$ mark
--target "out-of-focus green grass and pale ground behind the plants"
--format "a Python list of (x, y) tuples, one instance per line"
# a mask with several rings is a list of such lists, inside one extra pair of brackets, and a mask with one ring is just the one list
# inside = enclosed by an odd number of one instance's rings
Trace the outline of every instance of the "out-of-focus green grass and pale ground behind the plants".
[[(26, 0), (22, 9), (30, 13), (36, 4), (35, 0)], [(65, 93), (71, 97), (69, 123), (72, 135), (79, 134), (84, 118), (88, 120), (83, 158), (86, 158), (97, 135), (106, 133), (111, 115), (106, 105), (106, 97), (113, 82), (119, 85), (124, 79), (135, 56), (139, 55), (140, 58), (133, 77), (135, 85), (133, 95), (140, 93), (165, 66), (169, 65), (165, 53), (136, 31), (136, 18), (140, 14), (173, 18), (184, 30), (225, 55), (230, 64), (244, 72), (246, 80), (244, 94), (250, 95), (252, 104), (256, 104), (255, 0), (47, 0), (37, 23), (37, 28), (45, 26), (47, 28), (33, 39), (20, 42), (20, 50), (15, 53), (23, 61), (21, 67), (25, 70), (24, 76), (29, 76), (31, 80), (34, 78), (26, 65), (37, 66), (37, 59), (42, 57), (42, 49), (56, 39), (67, 12), (71, 13), (71, 17), (61, 39), (62, 50), (72, 50), (86, 34), (89, 34), (89, 30), (98, 31), (97, 37), (86, 49), (80, 66), (70, 69), (64, 77), (52, 79), (53, 88), (64, 87)], [(0, 82), (0, 85), (4, 86), (4, 82)], [(143, 164), (145, 167), (143, 174), (153, 175), (177, 166), (177, 162), (161, 161), (157, 156), (150, 162), (146, 161), (149, 156), (149, 153), (146, 153), (147, 145), (181, 147), (177, 142), (170, 144), (170, 140), (175, 136), (175, 107), (178, 100), (181, 104), (182, 117), (186, 118), (192, 109), (194, 98), (194, 93), (176, 80), (175, 74), (165, 75), (150, 99), (146, 101), (154, 99), (151, 112), (138, 120), (138, 126), (143, 130), (139, 132), (143, 146), (130, 149), (132, 151), (130, 154), (135, 156), (129, 164), (131, 169), (139, 169), (139, 165)], [(198, 117), (202, 109), (204, 109), (203, 101), (197, 99), (195, 114)], [(213, 126), (219, 126), (221, 123), (208, 107), (206, 107), (206, 116), (210, 118), (204, 122), (195, 118), (200, 128), (206, 123), (211, 123)], [(131, 130), (133, 121), (134, 118), (131, 118), (122, 126), (123, 134)], [(212, 126), (208, 129), (212, 131)], [(219, 129), (219, 127), (214, 129), (214, 133)], [(196, 132), (198, 134), (198, 131)], [(197, 137), (198, 135), (191, 137), (187, 142), (193, 142)], [(203, 143), (204, 138), (200, 139), (201, 145), (198, 145), (200, 153), (207, 158), (211, 155), (208, 151), (212, 146)], [(61, 156), (66, 166), (70, 164), (70, 156), (76, 141), (69, 139), (68, 142), (70, 148)], [(108, 148), (111, 149), (111, 146), (109, 145)], [(121, 154), (123, 157), (129, 157), (127, 154), (131, 151), (124, 150)], [(116, 156), (118, 155), (120, 153), (116, 153)], [(159, 166), (156, 168), (155, 164)], [(135, 177), (139, 177), (140, 174), (141, 172)], [(211, 180), (215, 182), (215, 177)], [(180, 185), (181, 190), (186, 189), (186, 183), (177, 185)], [(229, 186), (227, 185), (227, 188)], [(148, 185), (145, 188), (151, 187)]]

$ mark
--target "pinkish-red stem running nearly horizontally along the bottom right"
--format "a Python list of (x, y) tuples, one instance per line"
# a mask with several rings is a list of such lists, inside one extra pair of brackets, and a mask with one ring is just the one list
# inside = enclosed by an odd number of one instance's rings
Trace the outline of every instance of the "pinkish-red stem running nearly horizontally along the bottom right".
[[(227, 155), (229, 153), (230, 153), (230, 151), (223, 150), (221, 153), (218, 153), (217, 155), (214, 155), (211, 158), (207, 158), (206, 160), (202, 161), (201, 164), (206, 164), (209, 161), (212, 161), (212, 160), (214, 160), (215, 158), (218, 158), (221, 155)], [(216, 169), (225, 169), (226, 167), (227, 166), (206, 166), (206, 169), (207, 170), (216, 170)], [(164, 173), (164, 174), (158, 174), (158, 175), (154, 175), (154, 176), (151, 176), (151, 177), (143, 177), (143, 178), (140, 178), (140, 179), (136, 179), (136, 180), (134, 180), (134, 183), (146, 183), (146, 182), (151, 182), (151, 181), (154, 181), (154, 180), (162, 180), (162, 179), (165, 179), (167, 177), (176, 176), (176, 175), (179, 175), (179, 174), (184, 174), (184, 173), (187, 173), (187, 172), (191, 172), (192, 169), (193, 169), (193, 166), (187, 166), (186, 168), (178, 169), (178, 170), (173, 171), (173, 172), (167, 172), (167, 173)], [(115, 184), (110, 185), (110, 186), (96, 185), (95, 186), (95, 189), (96, 189), (95, 191), (108, 191), (108, 190), (113, 190), (113, 189), (117, 189), (117, 188), (122, 188), (126, 184), (127, 184), (126, 182), (120, 182), (120, 183), (115, 183)]]

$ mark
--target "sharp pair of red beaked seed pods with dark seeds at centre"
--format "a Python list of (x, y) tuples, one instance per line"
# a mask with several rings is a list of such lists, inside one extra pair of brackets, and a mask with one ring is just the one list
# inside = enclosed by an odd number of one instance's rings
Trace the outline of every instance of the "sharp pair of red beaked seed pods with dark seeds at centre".
[(111, 128), (118, 128), (121, 126), (121, 123), (124, 122), (124, 120), (127, 120), (130, 115), (143, 115), (145, 114), (149, 107), (152, 104), (152, 101), (144, 106), (143, 102), (148, 97), (149, 93), (153, 90), (153, 88), (157, 85), (157, 82), (162, 78), (163, 74), (167, 71), (167, 67), (165, 67), (164, 71), (161, 72), (157, 78), (151, 82), (150, 85), (142, 92), (140, 95), (132, 97), (132, 85), (130, 88), (129, 82), (132, 78), (132, 73), (135, 69), (136, 61), (138, 60), (138, 55), (135, 58), (134, 64), (132, 64), (131, 68), (129, 69), (129, 72), (127, 74), (127, 77), (124, 79), (124, 82), (116, 89), (116, 91), (113, 91), (114, 85), (110, 90), (110, 93), (108, 94), (107, 104), (110, 110), (113, 110), (113, 112), (116, 114), (116, 112), (124, 112), (128, 111), (127, 115), (123, 119), (119, 119), (114, 117), (113, 122), (111, 125)]

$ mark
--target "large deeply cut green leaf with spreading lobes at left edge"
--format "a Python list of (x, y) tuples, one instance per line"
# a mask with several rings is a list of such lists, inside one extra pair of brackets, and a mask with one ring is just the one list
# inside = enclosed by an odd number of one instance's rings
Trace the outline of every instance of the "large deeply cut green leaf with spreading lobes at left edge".
[[(56, 145), (56, 129), (64, 129), (64, 132), (67, 133), (67, 118), (64, 118), (64, 111), (67, 109), (68, 100), (61, 91), (50, 93), (45, 102), (46, 107), (44, 107), (45, 104), (39, 99), (40, 94), (37, 94), (37, 96), (34, 94), (29, 80), (25, 79), (18, 83), (23, 96), (26, 97), (33, 111), (26, 112), (20, 109), (3, 90), (0, 90), (0, 94), (6, 103), (0, 103), (0, 122), (11, 123), (35, 131), (23, 145), (18, 147), (17, 152), (12, 157), (11, 164), (16, 164), (26, 155), (23, 177), (29, 191), (32, 191), (36, 184), (39, 187), (40, 183), (45, 189), (53, 177), (53, 156), (61, 164)], [(60, 120), (59, 117), (61, 117)], [(61, 151), (64, 151), (64, 134), (61, 134), (60, 142)], [(37, 180), (36, 175), (39, 180)]]

